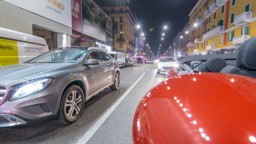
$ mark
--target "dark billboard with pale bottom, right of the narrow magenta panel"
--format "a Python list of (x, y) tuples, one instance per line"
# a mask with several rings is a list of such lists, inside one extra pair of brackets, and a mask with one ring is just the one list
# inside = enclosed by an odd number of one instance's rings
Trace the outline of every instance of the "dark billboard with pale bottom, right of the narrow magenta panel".
[(91, 0), (82, 1), (82, 33), (106, 42), (106, 18), (103, 10)]

